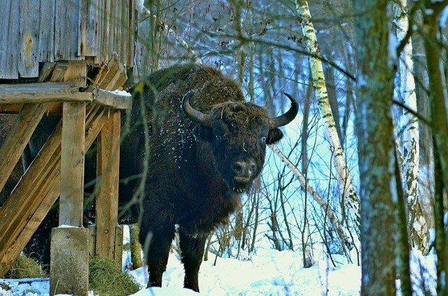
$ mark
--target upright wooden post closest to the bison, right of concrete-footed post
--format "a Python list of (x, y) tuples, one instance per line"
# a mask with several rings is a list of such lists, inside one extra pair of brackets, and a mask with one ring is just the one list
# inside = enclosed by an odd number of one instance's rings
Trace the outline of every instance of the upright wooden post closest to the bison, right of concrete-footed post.
[(95, 201), (97, 242), (95, 254), (114, 258), (118, 225), (118, 171), (120, 166), (120, 111), (109, 110), (109, 118), (98, 135)]

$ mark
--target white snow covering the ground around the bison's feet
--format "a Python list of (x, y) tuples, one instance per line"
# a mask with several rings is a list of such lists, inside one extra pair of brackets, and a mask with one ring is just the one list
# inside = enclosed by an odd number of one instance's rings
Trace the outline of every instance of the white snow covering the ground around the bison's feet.
[[(127, 231), (125, 231), (127, 235)], [(126, 239), (126, 237), (125, 237)], [(129, 262), (129, 252), (123, 254), (123, 265)], [(360, 267), (346, 263), (342, 256), (333, 256), (337, 267), (330, 260), (318, 260), (313, 266), (303, 268), (300, 252), (258, 249), (250, 260), (216, 258), (209, 253), (209, 260), (200, 270), (201, 295), (360, 295)], [(216, 264), (215, 264), (216, 261)], [(425, 295), (422, 286), (435, 293), (435, 256), (423, 257), (412, 252), (412, 280), (414, 295)], [(197, 295), (183, 289), (183, 266), (175, 253), (169, 256), (162, 288), (146, 289), (148, 274), (144, 268), (130, 272), (141, 284), (137, 296)], [(423, 284), (421, 284), (423, 283)], [(398, 282), (399, 286), (399, 282)], [(7, 288), (8, 287), (8, 288)], [(0, 279), (0, 295), (49, 295), (48, 279)], [(94, 295), (94, 293), (90, 293)], [(428, 295), (428, 294), (426, 294)]]

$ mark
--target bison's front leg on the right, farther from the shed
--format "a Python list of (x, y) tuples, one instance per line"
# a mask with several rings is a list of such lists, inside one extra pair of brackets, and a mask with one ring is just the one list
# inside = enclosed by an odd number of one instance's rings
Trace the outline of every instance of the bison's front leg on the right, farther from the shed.
[(186, 232), (179, 231), (179, 244), (181, 247), (181, 256), (183, 268), (185, 269), (185, 278), (183, 286), (185, 288), (199, 292), (198, 274), (204, 256), (204, 246), (207, 235), (189, 235)]

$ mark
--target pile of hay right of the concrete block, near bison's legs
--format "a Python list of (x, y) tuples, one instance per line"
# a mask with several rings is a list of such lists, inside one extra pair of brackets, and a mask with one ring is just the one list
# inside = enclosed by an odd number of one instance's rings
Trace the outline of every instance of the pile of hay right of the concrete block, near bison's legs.
[(89, 263), (89, 290), (99, 295), (130, 295), (140, 290), (139, 284), (117, 262), (92, 257)]

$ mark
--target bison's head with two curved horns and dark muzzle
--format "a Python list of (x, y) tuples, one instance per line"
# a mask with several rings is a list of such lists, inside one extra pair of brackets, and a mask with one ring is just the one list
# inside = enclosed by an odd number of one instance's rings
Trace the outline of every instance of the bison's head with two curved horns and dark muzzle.
[(190, 105), (194, 91), (183, 97), (183, 111), (198, 124), (195, 137), (209, 142), (214, 167), (232, 191), (241, 193), (251, 187), (265, 163), (266, 145), (279, 141), (283, 137), (279, 127), (297, 114), (297, 102), (285, 95), (291, 108), (275, 118), (269, 118), (265, 108), (245, 101), (219, 103), (204, 114)]

